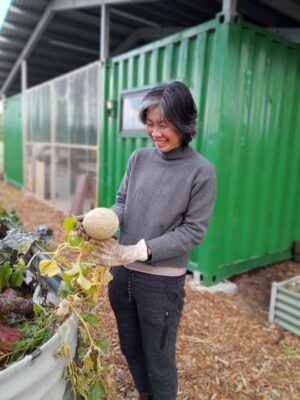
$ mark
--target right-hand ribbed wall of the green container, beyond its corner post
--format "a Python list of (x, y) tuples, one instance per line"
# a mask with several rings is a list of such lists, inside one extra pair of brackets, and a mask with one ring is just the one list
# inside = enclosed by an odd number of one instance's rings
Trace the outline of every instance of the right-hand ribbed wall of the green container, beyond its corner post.
[(218, 198), (198, 253), (209, 255), (211, 281), (290, 257), (300, 236), (299, 48), (246, 23), (224, 29)]

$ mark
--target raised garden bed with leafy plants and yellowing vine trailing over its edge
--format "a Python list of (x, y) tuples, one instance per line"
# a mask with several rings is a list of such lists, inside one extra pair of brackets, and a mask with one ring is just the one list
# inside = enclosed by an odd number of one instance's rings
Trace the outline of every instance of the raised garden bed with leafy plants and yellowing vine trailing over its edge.
[(75, 223), (65, 221), (66, 241), (53, 251), (39, 245), (45, 227), (25, 233), (0, 218), (1, 400), (62, 400), (66, 380), (74, 396), (112, 398), (103, 362), (108, 342), (94, 312), (109, 274), (89, 260)]

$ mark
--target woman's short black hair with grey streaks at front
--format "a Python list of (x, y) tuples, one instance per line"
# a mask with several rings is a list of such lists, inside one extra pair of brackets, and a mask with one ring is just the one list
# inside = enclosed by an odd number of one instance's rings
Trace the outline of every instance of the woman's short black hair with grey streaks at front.
[(181, 137), (185, 148), (196, 135), (197, 107), (190, 89), (182, 82), (159, 84), (143, 98), (139, 117), (146, 123), (149, 109), (158, 107), (162, 118), (169, 122)]

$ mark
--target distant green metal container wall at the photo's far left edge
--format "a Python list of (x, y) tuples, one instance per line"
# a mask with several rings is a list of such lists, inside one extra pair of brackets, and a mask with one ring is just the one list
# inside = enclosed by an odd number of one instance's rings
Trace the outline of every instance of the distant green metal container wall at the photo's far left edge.
[(22, 95), (4, 101), (4, 177), (23, 187)]

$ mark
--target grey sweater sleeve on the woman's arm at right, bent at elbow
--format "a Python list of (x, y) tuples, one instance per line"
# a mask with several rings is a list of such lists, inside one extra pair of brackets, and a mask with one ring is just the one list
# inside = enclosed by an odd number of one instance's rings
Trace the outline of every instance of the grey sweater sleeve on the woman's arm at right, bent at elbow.
[(183, 222), (172, 231), (147, 240), (151, 249), (151, 263), (180, 256), (201, 243), (207, 231), (215, 201), (215, 175), (195, 184)]

